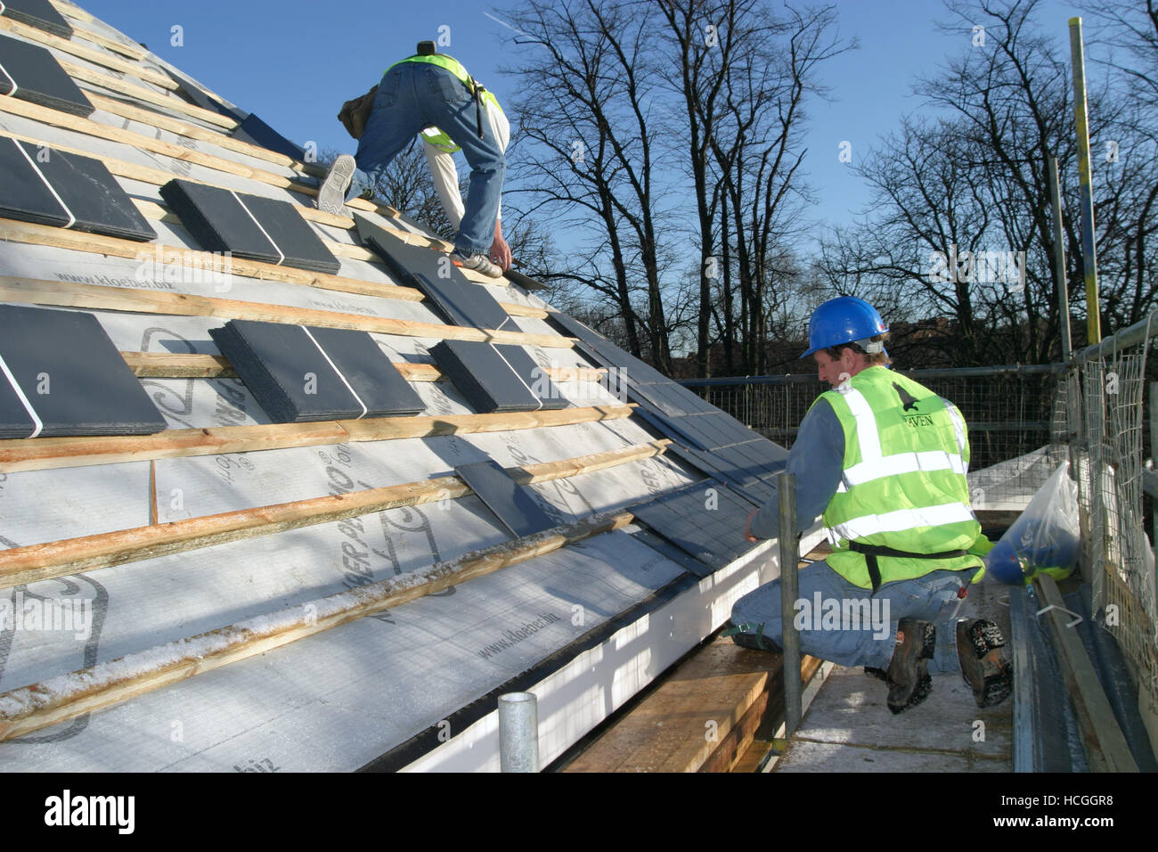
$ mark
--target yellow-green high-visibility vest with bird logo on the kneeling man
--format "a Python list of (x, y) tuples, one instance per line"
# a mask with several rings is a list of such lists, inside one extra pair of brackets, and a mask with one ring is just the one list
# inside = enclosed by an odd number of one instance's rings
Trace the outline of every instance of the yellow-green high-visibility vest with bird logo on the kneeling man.
[[(924, 554), (973, 547), (981, 524), (969, 509), (969, 442), (952, 402), (884, 366), (863, 370), (820, 399), (844, 432), (841, 485), (823, 516), (837, 539), (827, 558), (833, 570), (873, 588), (867, 558), (850, 549), (850, 541)], [(881, 555), (877, 565), (884, 584), (983, 562), (976, 554)]]

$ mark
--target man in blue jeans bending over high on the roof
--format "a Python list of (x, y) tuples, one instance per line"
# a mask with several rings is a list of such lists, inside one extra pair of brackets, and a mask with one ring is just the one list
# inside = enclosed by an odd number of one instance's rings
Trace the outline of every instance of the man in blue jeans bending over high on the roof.
[[(387, 68), (338, 118), (358, 139), (358, 153), (335, 160), (317, 194), (320, 210), (338, 213), (351, 198), (372, 192), (390, 161), (422, 133), (442, 207), (459, 228), (452, 260), (492, 277), (510, 269), (499, 201), (511, 125), (494, 95), (456, 59), (435, 53), (433, 42), (419, 42), (415, 56)], [(450, 155), (459, 150), (470, 163), (466, 206)]]

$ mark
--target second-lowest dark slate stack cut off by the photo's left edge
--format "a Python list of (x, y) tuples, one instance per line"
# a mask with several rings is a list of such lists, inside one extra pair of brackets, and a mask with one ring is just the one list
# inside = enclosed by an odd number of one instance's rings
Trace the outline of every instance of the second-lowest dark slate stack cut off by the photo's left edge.
[(156, 232), (104, 163), (0, 138), (0, 217), (129, 240)]

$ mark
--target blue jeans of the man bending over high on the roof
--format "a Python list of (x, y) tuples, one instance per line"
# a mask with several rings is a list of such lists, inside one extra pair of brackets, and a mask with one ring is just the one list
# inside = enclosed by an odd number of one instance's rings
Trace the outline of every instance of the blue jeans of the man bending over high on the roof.
[(470, 163), (470, 191), (455, 248), (486, 254), (494, 240), (494, 219), (503, 194), (506, 158), (483, 105), (483, 138), (478, 138), (475, 99), (459, 78), (428, 63), (401, 63), (378, 85), (354, 160), (346, 201), (378, 183), (390, 161), (425, 128), (437, 126), (462, 147)]

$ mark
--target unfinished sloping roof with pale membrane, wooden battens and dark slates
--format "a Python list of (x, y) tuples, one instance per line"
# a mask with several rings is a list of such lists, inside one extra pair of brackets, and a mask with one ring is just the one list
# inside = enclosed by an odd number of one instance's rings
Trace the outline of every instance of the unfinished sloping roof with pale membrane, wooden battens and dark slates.
[(398, 211), (316, 210), (292, 143), (50, 6), (71, 36), (6, 12), (0, 65), (93, 111), (0, 74), (0, 150), (97, 162), (117, 210), (0, 206), (0, 311), (90, 330), (12, 354), (72, 424), (0, 440), (0, 767), (494, 769), (514, 687), (549, 760), (775, 575), (742, 519), (783, 449)]

